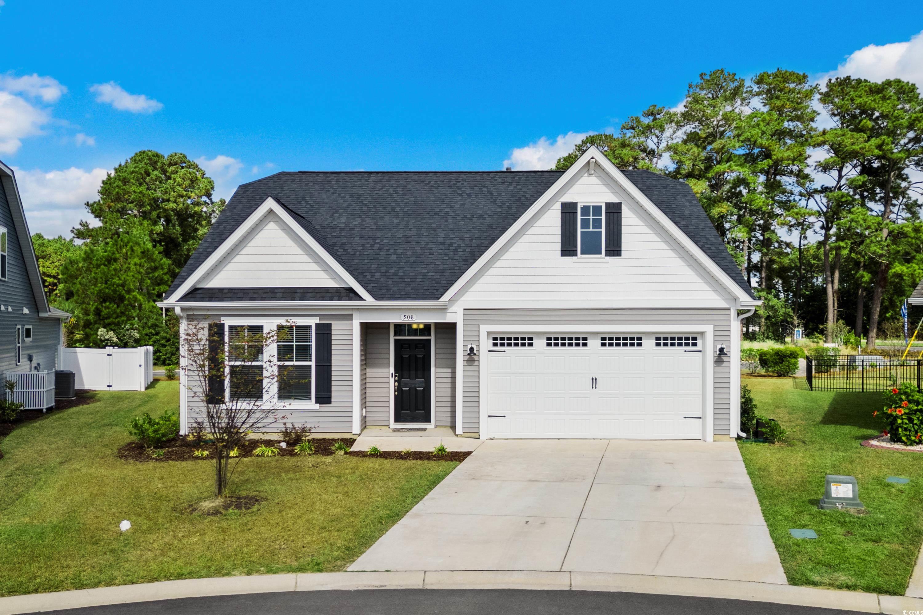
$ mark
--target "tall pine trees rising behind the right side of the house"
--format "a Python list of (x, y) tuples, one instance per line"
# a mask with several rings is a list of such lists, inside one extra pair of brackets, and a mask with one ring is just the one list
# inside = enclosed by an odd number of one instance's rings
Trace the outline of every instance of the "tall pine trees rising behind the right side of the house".
[(833, 342), (851, 330), (874, 346), (895, 335), (923, 278), (916, 85), (718, 69), (676, 108), (653, 104), (616, 134), (587, 136), (556, 168), (591, 145), (619, 168), (689, 183), (764, 302), (749, 337), (804, 328)]

